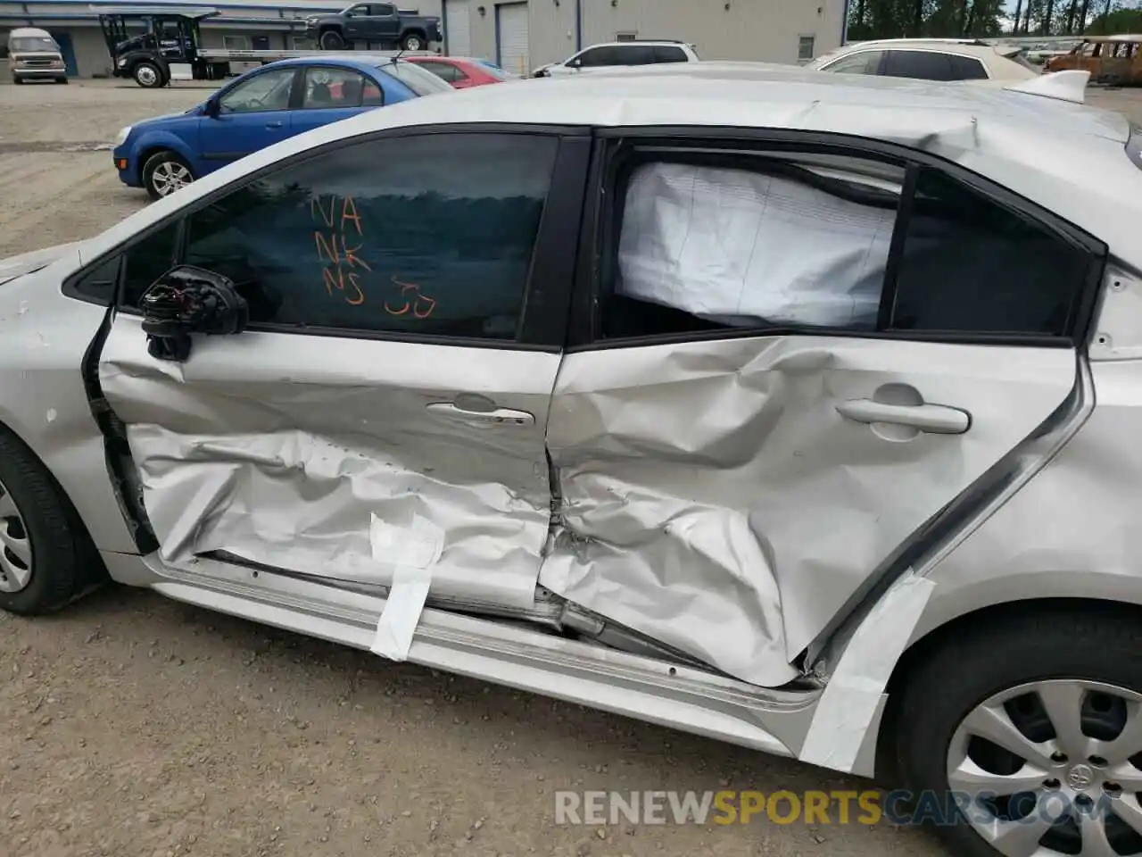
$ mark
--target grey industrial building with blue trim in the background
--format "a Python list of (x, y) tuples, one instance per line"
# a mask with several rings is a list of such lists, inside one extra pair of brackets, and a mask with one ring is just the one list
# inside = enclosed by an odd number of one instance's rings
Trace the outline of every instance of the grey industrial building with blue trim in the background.
[[(137, 6), (123, 2), (123, 6)], [(100, 0), (102, 6), (115, 5)], [(201, 7), (167, 0), (147, 6)], [(349, 0), (224, 0), (202, 24), (202, 47), (306, 49), (296, 19), (336, 11)], [(0, 0), (0, 45), (7, 31), (39, 26), (59, 42), (69, 74), (110, 71), (91, 0)], [(443, 19), (444, 45), (457, 56), (492, 59), (515, 73), (571, 56), (601, 41), (682, 39), (703, 59), (805, 62), (841, 45), (845, 0), (408, 0), (399, 6)]]

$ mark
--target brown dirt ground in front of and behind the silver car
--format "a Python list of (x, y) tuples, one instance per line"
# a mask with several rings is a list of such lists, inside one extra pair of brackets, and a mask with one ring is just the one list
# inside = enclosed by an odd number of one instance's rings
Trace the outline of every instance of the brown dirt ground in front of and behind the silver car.
[[(0, 257), (145, 205), (110, 141), (202, 88), (0, 86)], [(1142, 96), (1108, 93), (1142, 119)], [(935, 857), (877, 826), (557, 825), (557, 790), (868, 784), (542, 697), (107, 590), (0, 614), (3, 857)]]

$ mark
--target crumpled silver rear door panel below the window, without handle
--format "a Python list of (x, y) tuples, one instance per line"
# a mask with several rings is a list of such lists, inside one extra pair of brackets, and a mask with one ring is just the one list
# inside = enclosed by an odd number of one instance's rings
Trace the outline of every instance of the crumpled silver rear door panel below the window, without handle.
[[(758, 337), (570, 354), (548, 449), (566, 532), (540, 583), (773, 687), (901, 543), (1042, 424), (1064, 349)], [(839, 403), (904, 385), (971, 414), (910, 439)]]

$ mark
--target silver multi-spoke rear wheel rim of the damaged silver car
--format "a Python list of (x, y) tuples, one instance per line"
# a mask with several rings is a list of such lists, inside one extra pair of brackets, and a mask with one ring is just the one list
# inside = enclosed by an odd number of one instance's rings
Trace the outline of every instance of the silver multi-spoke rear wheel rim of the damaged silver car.
[(1142, 695), (1078, 679), (996, 694), (956, 729), (948, 786), (1005, 857), (1142, 855)]

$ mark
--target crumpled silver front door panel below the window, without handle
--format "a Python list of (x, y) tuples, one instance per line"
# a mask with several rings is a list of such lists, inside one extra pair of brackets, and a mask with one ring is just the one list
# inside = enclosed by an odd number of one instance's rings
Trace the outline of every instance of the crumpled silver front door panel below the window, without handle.
[[(555, 354), (251, 331), (199, 337), (175, 363), (147, 355), (138, 320), (120, 315), (99, 379), (166, 561), (224, 551), (388, 586), (372, 520), (419, 516), (443, 534), (434, 593), (526, 608), (549, 532), (557, 367)], [(475, 426), (426, 407), (461, 391), (536, 422)]]

